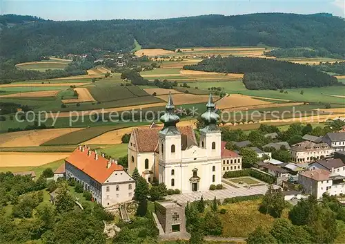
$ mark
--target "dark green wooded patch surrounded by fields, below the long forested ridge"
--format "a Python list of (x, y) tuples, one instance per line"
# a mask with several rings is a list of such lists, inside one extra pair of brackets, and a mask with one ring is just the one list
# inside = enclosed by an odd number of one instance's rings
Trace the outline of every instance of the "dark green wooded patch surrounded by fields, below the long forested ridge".
[(252, 90), (321, 87), (338, 84), (337, 79), (312, 66), (275, 59), (252, 57), (215, 57), (184, 66), (193, 71), (244, 73), (243, 82)]

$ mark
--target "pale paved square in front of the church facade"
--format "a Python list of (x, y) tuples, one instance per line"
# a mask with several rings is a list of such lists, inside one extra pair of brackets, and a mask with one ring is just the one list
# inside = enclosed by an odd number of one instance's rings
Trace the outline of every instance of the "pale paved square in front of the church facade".
[[(257, 195), (257, 194), (265, 194), (268, 189), (268, 184), (265, 185), (258, 185), (252, 186), (250, 188), (238, 186), (232, 187), (227, 185), (228, 179), (222, 179), (221, 182), (225, 189), (215, 190), (215, 191), (204, 191), (204, 192), (193, 192), (188, 194), (177, 194), (169, 196), (172, 200), (176, 200), (178, 203), (187, 203), (187, 202), (194, 202), (195, 200), (199, 200), (201, 196), (205, 200), (213, 200), (215, 197), (219, 200), (225, 198), (233, 198), (235, 196), (250, 196), (250, 195)], [(277, 185), (273, 185), (275, 189), (280, 188)]]

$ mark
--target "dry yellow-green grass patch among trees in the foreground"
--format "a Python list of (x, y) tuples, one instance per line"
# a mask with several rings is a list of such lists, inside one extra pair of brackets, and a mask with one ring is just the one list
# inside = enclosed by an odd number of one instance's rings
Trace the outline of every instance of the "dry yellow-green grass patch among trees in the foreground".
[[(246, 237), (256, 227), (270, 229), (275, 218), (259, 212), (262, 200), (248, 200), (239, 203), (222, 205), (219, 209), (226, 209), (226, 214), (219, 214), (223, 223), (224, 237)], [(283, 218), (287, 218), (288, 209), (284, 209)]]

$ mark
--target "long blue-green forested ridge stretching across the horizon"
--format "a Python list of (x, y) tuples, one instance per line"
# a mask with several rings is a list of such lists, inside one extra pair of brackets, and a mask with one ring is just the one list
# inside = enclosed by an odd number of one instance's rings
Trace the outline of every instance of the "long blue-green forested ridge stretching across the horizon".
[[(4, 17), (2, 17), (4, 18)], [(207, 15), (159, 20), (32, 21), (3, 28), (0, 56), (17, 61), (39, 55), (143, 48), (256, 46), (324, 48), (345, 57), (344, 19), (282, 13)]]

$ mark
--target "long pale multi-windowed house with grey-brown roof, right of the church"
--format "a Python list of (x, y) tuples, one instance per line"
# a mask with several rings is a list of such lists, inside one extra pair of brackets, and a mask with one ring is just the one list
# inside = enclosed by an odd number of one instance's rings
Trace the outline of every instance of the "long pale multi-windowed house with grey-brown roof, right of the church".
[(331, 155), (333, 149), (328, 144), (321, 142), (304, 141), (293, 144), (290, 147), (290, 153), (293, 162), (312, 162), (313, 160), (323, 159)]

